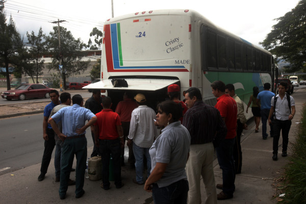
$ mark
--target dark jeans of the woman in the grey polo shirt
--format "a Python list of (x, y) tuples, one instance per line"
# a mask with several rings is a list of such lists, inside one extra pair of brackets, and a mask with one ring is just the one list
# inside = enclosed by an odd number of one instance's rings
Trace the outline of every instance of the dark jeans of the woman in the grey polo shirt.
[(169, 186), (159, 188), (157, 184), (153, 184), (152, 196), (154, 203), (187, 203), (188, 197), (188, 181), (180, 180)]

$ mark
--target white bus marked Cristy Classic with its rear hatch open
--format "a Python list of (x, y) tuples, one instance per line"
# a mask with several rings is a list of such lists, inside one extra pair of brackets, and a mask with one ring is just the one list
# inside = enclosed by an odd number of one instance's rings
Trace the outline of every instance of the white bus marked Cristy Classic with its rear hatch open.
[[(210, 85), (221, 80), (235, 85), (246, 107), (253, 86), (263, 90), (264, 83), (274, 82), (271, 53), (195, 11), (156, 10), (115, 17), (105, 22), (103, 36), (103, 80), (84, 88), (107, 90), (115, 105), (130, 90), (144, 93), (156, 108), (167, 98), (167, 86), (178, 84), (182, 100), (184, 91), (197, 87), (205, 103), (214, 106)], [(124, 79), (127, 87), (114, 86), (112, 80), (117, 79)]]

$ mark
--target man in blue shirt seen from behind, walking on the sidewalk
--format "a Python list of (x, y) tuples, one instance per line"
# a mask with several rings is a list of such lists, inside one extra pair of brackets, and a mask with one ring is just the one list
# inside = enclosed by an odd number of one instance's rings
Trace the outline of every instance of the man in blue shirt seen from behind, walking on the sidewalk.
[[(269, 112), (271, 109), (271, 98), (275, 96), (274, 93), (270, 91), (271, 85), (269, 83), (264, 84), (264, 91), (260, 92), (257, 95), (256, 103), (260, 107), (260, 114), (262, 117), (262, 133), (263, 139), (266, 140), (268, 137), (267, 134), (267, 120), (269, 117)], [(270, 124), (270, 136), (273, 137), (273, 126)]]

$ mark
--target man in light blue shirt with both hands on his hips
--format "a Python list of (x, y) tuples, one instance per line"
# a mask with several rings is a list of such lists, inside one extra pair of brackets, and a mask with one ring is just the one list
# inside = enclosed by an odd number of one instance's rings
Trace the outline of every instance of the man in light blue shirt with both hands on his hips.
[[(88, 109), (83, 108), (84, 100), (77, 94), (72, 97), (71, 107), (64, 107), (49, 119), (54, 132), (64, 142), (61, 155), (61, 183), (59, 194), (61, 199), (66, 198), (68, 180), (73, 163), (73, 156), (77, 158), (77, 168), (75, 170), (75, 198), (84, 195), (84, 175), (87, 158), (86, 129), (96, 122), (96, 116)], [(85, 124), (86, 120), (89, 120)], [(57, 123), (62, 121), (62, 132), (58, 129)]]

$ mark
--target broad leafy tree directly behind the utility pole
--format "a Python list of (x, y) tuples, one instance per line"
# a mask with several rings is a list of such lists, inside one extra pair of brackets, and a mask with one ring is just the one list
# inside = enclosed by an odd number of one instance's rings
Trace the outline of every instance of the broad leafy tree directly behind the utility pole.
[(80, 38), (74, 39), (70, 31), (60, 27), (60, 42), (59, 49), (58, 27), (53, 27), (53, 32), (45, 37), (47, 48), (52, 54), (52, 63), (48, 66), (49, 69), (59, 69), (59, 60), (62, 60), (62, 78), (64, 89), (66, 89), (66, 77), (73, 74), (84, 72), (89, 65), (89, 60), (84, 61), (85, 53), (81, 50), (86, 47), (86, 44)]

